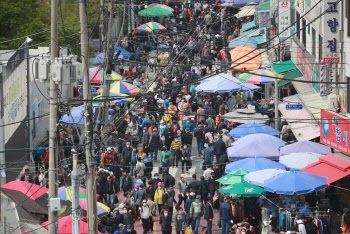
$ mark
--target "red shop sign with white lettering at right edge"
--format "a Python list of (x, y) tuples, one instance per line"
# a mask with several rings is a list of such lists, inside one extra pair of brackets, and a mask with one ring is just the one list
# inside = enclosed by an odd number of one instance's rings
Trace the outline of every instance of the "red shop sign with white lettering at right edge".
[(350, 155), (350, 119), (321, 110), (321, 143)]

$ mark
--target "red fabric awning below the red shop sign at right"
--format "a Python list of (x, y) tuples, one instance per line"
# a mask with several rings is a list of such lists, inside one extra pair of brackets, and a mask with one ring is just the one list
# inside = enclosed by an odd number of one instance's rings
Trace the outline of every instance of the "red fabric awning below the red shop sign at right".
[(350, 162), (333, 154), (320, 157), (318, 162), (304, 167), (302, 171), (327, 177), (327, 184), (331, 184), (350, 175)]

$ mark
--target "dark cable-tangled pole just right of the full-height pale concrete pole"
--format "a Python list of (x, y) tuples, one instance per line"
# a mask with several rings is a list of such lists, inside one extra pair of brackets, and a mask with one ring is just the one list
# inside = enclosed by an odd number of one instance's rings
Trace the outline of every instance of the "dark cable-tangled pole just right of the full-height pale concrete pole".
[[(108, 1), (108, 33), (107, 33), (107, 49), (106, 49), (106, 69), (104, 69), (104, 86), (103, 86), (103, 96), (108, 99), (109, 97), (109, 89), (110, 89), (110, 83), (111, 83), (111, 53), (112, 51), (112, 38), (113, 38), (113, 0)], [(109, 112), (109, 104), (110, 101), (104, 102), (104, 112), (103, 112), (103, 131), (102, 135), (107, 134), (108, 132), (108, 112)]]

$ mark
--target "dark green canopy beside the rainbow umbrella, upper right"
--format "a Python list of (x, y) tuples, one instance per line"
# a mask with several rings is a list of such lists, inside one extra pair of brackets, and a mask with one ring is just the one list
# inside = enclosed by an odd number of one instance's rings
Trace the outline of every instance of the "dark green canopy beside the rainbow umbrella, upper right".
[[(284, 75), (284, 78), (287, 78), (287, 79), (295, 79), (303, 76), (303, 74), (295, 66), (292, 60), (274, 64), (271, 67), (275, 72)], [(282, 80), (278, 83), (278, 87), (282, 87), (283, 85), (286, 85), (290, 82), (291, 82), (290, 80)]]

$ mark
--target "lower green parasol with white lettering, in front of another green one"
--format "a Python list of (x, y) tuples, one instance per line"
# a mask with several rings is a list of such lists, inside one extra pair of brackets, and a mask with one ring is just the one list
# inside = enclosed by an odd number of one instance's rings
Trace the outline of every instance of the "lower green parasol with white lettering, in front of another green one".
[(260, 194), (266, 193), (266, 190), (254, 184), (243, 181), (223, 187), (219, 189), (219, 193), (234, 197), (258, 197)]

